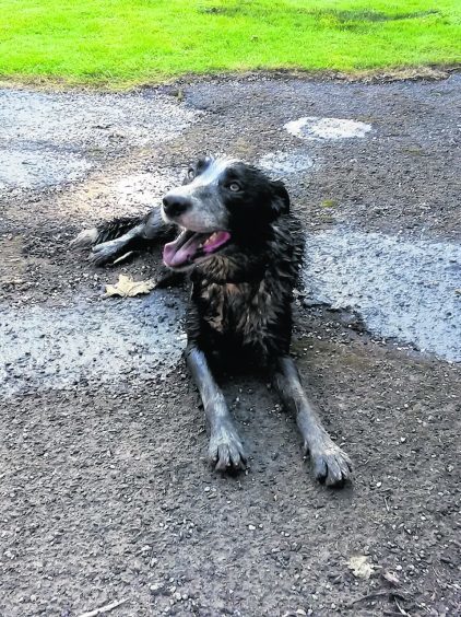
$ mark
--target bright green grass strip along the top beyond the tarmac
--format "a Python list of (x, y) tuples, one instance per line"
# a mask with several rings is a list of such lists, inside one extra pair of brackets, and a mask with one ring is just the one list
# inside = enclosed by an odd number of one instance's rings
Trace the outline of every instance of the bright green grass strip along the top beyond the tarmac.
[(15, 80), (453, 65), (460, 42), (461, 0), (0, 0), (0, 75)]

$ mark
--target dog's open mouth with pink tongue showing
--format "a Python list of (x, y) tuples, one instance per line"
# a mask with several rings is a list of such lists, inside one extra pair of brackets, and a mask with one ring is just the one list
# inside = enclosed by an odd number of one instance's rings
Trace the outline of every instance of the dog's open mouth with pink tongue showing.
[(174, 242), (165, 244), (163, 260), (169, 268), (184, 268), (194, 264), (200, 257), (216, 253), (230, 240), (225, 231), (199, 233), (185, 230)]

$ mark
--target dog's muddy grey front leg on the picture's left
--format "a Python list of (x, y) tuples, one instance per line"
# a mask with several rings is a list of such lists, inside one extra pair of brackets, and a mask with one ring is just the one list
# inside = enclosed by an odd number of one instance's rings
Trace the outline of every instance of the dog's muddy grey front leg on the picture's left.
[(186, 350), (186, 361), (199, 388), (210, 428), (210, 461), (215, 469), (245, 468), (245, 451), (225, 398), (210, 371), (205, 354), (197, 346)]

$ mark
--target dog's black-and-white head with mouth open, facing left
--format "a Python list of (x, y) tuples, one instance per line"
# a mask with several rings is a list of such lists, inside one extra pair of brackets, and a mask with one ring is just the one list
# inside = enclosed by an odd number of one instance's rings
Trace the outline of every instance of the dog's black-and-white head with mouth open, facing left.
[(163, 199), (165, 221), (184, 230), (165, 245), (164, 261), (182, 270), (216, 254), (258, 246), (271, 223), (288, 210), (282, 182), (241, 161), (200, 159), (189, 167), (184, 185)]

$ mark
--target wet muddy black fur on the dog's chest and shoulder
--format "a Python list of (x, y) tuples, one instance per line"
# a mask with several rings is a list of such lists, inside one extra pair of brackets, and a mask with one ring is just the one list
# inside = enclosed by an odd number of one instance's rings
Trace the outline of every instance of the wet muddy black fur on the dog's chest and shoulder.
[(268, 364), (288, 353), (293, 289), (302, 266), (300, 224), (288, 212), (270, 223), (257, 255), (217, 255), (192, 272), (190, 340), (209, 352), (246, 353)]

